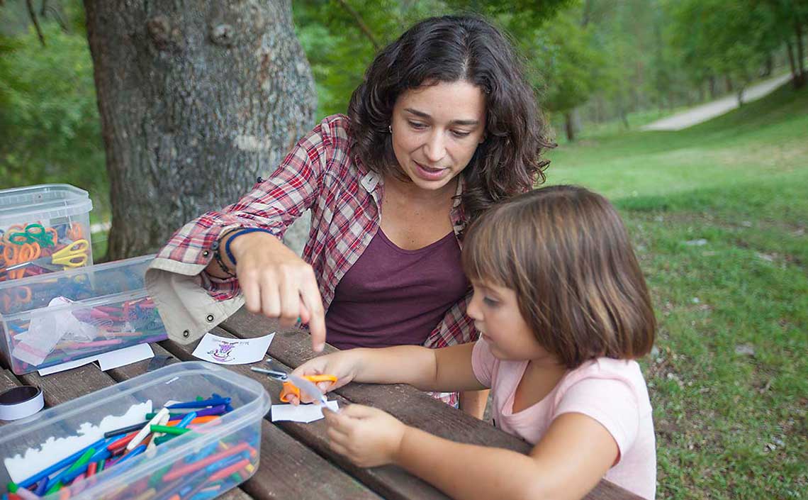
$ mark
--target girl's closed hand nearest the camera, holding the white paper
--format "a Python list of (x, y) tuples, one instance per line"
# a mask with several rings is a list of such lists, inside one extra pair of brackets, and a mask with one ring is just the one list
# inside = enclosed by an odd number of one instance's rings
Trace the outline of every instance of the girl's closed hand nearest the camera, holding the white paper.
[(395, 462), (406, 426), (398, 419), (363, 405), (350, 405), (335, 413), (323, 408), (331, 449), (360, 467)]

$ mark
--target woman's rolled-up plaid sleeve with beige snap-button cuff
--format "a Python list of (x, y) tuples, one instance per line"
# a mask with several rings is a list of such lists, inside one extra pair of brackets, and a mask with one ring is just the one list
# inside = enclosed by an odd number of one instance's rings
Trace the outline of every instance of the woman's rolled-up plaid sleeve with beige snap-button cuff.
[(146, 287), (171, 340), (187, 344), (242, 307), (235, 278), (204, 273), (225, 231), (262, 227), (277, 238), (314, 204), (322, 172), (333, 156), (329, 118), (292, 148), (275, 172), (221, 211), (210, 211), (179, 228), (146, 271)]

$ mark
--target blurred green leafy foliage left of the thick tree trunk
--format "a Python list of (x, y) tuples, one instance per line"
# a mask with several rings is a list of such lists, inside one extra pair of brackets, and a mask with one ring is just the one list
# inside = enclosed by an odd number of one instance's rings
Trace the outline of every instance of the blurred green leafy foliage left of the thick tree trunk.
[(92, 60), (82, 33), (43, 23), (0, 37), (0, 188), (65, 182), (107, 195)]

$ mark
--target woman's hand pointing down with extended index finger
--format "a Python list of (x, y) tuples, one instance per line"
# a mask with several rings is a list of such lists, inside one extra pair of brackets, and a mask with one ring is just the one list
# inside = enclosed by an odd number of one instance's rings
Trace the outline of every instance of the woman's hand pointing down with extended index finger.
[[(225, 235), (222, 241), (228, 237)], [(284, 328), (300, 317), (309, 324), (312, 347), (322, 351), (326, 317), (312, 267), (280, 239), (264, 232), (238, 235), (229, 245), (236, 259), (236, 277), (244, 292), (247, 311), (280, 318), (280, 326)]]

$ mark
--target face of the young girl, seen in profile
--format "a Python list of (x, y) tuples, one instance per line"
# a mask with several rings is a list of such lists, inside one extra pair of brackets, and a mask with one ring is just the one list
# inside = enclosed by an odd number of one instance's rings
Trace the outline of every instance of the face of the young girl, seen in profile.
[(514, 290), (483, 282), (472, 285), (474, 294), (466, 313), (495, 358), (521, 361), (552, 357), (522, 317)]

